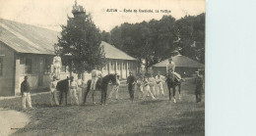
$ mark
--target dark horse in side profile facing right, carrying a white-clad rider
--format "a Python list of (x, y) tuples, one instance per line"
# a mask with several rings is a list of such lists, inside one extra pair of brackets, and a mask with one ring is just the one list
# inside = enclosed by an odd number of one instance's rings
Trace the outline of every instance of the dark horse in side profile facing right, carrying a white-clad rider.
[[(105, 75), (104, 77), (102, 78), (98, 78), (97, 81), (96, 81), (96, 90), (98, 91), (101, 91), (101, 104), (104, 105), (105, 104), (105, 101), (106, 101), (106, 91), (107, 91), (107, 84), (109, 83), (109, 81), (111, 81), (113, 84), (116, 83), (116, 76), (115, 74), (107, 74)], [(85, 94), (85, 100), (84, 100), (84, 103), (87, 102), (87, 95), (88, 93), (90, 92), (91, 90), (91, 83), (92, 83), (92, 80), (88, 80), (87, 82), (87, 91), (86, 91), (86, 94)], [(93, 102), (95, 102), (95, 91), (93, 92), (92, 94), (92, 97), (93, 97)]]

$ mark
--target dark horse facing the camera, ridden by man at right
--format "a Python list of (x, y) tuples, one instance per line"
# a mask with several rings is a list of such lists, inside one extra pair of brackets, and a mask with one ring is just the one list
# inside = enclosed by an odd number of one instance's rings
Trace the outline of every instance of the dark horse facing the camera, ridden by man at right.
[(166, 76), (165, 82), (167, 83), (167, 87), (169, 91), (169, 101), (171, 100), (170, 88), (172, 88), (172, 91), (173, 91), (173, 98), (175, 98), (176, 86), (178, 86), (178, 92), (180, 94), (181, 80), (178, 81), (177, 78), (174, 78), (174, 81), (173, 81), (168, 75)]

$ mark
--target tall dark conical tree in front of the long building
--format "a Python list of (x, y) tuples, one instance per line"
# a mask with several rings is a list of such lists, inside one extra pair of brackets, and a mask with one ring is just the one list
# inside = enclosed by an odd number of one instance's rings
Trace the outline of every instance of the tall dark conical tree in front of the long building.
[(101, 35), (92, 20), (92, 16), (86, 14), (83, 6), (73, 6), (74, 18), (68, 17), (67, 25), (62, 25), (61, 36), (58, 37), (56, 46), (63, 60), (70, 66), (70, 71), (82, 73), (91, 71), (95, 67), (101, 68), (104, 63), (104, 53), (100, 47)]

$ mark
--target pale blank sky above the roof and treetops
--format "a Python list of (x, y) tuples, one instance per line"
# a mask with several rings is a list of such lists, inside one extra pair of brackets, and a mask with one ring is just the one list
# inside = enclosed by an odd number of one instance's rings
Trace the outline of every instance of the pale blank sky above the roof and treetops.
[[(73, 17), (74, 3), (75, 0), (0, 0), (0, 18), (60, 31), (60, 25), (67, 23), (67, 17)], [(92, 15), (96, 26), (105, 31), (121, 23), (160, 20), (163, 15), (178, 20), (185, 15), (195, 16), (206, 11), (205, 0), (77, 0), (77, 3)], [(106, 12), (107, 9), (116, 9), (117, 12)], [(124, 9), (133, 12), (125, 13)], [(153, 10), (154, 13), (139, 13), (140, 9)], [(161, 13), (160, 10), (170, 13)]]

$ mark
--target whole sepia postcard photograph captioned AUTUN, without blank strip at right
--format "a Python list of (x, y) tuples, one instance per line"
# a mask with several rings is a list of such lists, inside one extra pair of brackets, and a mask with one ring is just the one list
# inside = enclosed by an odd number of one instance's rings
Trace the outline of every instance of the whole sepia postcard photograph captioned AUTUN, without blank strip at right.
[(1, 0), (0, 135), (205, 135), (205, 0)]

